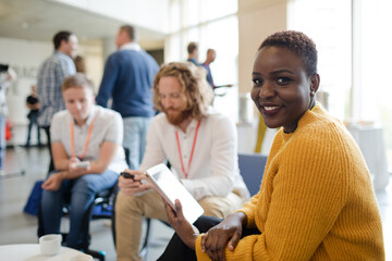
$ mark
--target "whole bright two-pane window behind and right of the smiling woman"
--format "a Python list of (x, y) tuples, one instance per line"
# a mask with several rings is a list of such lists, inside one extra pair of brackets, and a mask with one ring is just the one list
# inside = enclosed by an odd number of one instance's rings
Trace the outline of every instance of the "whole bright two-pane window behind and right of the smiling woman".
[(390, 10), (390, 0), (291, 0), (287, 28), (315, 40), (329, 111), (340, 120), (382, 126), (391, 170)]

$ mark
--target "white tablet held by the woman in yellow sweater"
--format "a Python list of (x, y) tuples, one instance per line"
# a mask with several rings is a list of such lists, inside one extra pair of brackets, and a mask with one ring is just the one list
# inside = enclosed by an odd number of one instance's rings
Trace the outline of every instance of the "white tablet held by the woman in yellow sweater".
[(179, 199), (184, 217), (193, 224), (204, 210), (196, 199), (186, 190), (174, 174), (164, 164), (155, 165), (147, 170), (148, 179), (155, 185), (156, 190), (174, 208), (174, 200)]

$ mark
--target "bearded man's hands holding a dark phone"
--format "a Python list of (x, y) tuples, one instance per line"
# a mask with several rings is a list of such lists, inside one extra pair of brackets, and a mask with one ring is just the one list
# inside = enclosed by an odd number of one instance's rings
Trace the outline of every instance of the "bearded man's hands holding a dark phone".
[(146, 174), (143, 172), (131, 170), (125, 170), (124, 172), (134, 175), (134, 178), (119, 177), (119, 187), (126, 196), (135, 196), (136, 194), (146, 191), (152, 187), (150, 183), (142, 183), (143, 179), (146, 179)]

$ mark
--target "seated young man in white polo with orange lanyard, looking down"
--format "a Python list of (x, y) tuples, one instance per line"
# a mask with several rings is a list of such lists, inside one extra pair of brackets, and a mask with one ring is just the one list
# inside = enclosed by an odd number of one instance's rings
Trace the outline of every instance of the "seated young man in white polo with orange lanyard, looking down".
[(66, 110), (54, 114), (50, 127), (56, 171), (42, 184), (42, 224), (44, 234), (60, 233), (64, 198), (71, 195), (66, 246), (78, 249), (88, 206), (126, 167), (123, 124), (119, 113), (94, 104), (94, 86), (85, 75), (65, 78), (61, 91)]

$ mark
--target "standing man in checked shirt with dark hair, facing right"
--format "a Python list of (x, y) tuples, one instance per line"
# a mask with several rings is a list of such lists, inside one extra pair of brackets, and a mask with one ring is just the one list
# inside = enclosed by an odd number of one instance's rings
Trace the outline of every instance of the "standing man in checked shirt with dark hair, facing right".
[(41, 103), (38, 125), (47, 135), (50, 152), (49, 172), (54, 170), (50, 148), (50, 122), (56, 112), (65, 109), (61, 85), (66, 76), (76, 73), (72, 59), (76, 55), (77, 44), (77, 37), (73, 33), (57, 33), (53, 37), (54, 53), (44, 62), (38, 72), (37, 92)]

